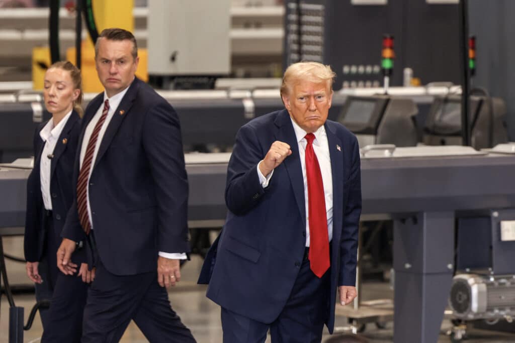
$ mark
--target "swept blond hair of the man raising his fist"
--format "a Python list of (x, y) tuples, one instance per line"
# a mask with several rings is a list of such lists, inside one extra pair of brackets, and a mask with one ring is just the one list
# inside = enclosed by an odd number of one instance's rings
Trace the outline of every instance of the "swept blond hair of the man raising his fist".
[(300, 81), (326, 82), (329, 93), (332, 93), (335, 76), (336, 74), (331, 69), (331, 66), (322, 63), (298, 62), (291, 64), (284, 72), (281, 96), (289, 95), (294, 85)]

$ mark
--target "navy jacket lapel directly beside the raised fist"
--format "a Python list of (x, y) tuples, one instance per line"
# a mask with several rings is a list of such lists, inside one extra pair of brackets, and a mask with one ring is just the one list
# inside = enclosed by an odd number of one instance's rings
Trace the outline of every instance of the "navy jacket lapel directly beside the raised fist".
[(302, 222), (306, 222), (306, 203), (304, 199), (304, 179), (302, 177), (302, 165), (300, 163), (299, 154), (299, 143), (297, 142), (297, 136), (295, 130), (291, 124), (291, 119), (286, 110), (281, 111), (277, 115), (275, 121), (279, 127), (277, 133), (277, 139), (288, 143), (291, 147), (291, 155), (286, 157), (283, 164), (289, 176), (291, 188), (293, 189), (297, 206), (299, 207), (299, 213), (302, 218)]

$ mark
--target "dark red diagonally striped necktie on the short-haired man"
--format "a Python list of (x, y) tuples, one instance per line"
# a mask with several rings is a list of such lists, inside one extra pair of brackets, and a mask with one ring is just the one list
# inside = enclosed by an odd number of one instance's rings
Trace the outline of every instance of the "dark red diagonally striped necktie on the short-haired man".
[(102, 128), (102, 124), (106, 121), (107, 113), (109, 112), (109, 99), (104, 102), (104, 110), (102, 115), (91, 133), (88, 147), (82, 161), (82, 167), (79, 172), (79, 179), (77, 180), (77, 211), (79, 212), (79, 220), (82, 229), (86, 234), (90, 233), (91, 223), (88, 214), (88, 179), (90, 177), (91, 165), (93, 162), (93, 153), (95, 152), (96, 141), (98, 139), (98, 133)]

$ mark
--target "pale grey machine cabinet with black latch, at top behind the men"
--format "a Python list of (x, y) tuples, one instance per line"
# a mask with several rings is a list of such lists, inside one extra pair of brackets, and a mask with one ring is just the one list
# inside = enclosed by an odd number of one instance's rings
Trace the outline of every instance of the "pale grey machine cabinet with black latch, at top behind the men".
[(165, 89), (214, 88), (230, 72), (230, 0), (149, 0), (148, 74)]

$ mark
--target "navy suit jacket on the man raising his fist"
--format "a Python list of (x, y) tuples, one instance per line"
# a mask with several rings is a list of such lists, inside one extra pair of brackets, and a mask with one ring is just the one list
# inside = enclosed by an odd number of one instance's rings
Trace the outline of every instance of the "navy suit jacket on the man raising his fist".
[[(337, 286), (355, 285), (356, 280), (361, 173), (356, 137), (339, 123), (328, 120), (324, 126), (333, 176), (333, 239), (330, 303), (320, 306), (327, 309), (332, 332)], [(292, 154), (274, 169), (263, 189), (256, 167), (276, 140), (288, 143)], [(306, 240), (301, 168), (286, 110), (258, 117), (239, 130), (227, 170), (226, 225), (199, 278), (209, 282), (207, 296), (223, 308), (264, 323), (282, 311)]]

